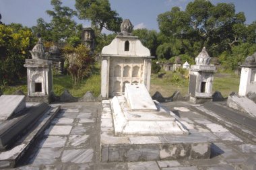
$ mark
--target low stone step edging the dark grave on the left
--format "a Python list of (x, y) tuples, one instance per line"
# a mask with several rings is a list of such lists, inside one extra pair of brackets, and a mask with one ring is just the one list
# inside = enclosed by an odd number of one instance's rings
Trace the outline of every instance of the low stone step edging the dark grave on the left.
[(20, 140), (16, 140), (17, 142), (9, 150), (0, 152), (0, 168), (15, 167), (24, 155), (26, 155), (26, 151), (34, 145), (36, 138), (51, 124), (51, 121), (55, 118), (59, 110), (59, 105), (52, 106), (49, 110), (46, 110), (42, 114), (42, 117), (36, 121), (36, 124), (30, 127), (29, 131)]

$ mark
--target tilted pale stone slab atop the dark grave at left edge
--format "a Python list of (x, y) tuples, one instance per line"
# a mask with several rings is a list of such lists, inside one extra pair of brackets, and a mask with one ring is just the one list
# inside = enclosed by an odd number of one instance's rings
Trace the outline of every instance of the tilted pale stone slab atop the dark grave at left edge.
[(7, 120), (26, 108), (25, 95), (1, 95), (0, 96), (0, 120)]

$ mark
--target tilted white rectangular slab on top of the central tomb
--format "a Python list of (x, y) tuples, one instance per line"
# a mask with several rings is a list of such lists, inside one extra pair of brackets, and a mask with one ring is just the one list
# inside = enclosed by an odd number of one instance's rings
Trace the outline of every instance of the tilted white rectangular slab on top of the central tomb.
[(157, 110), (144, 84), (125, 84), (125, 98), (131, 110)]

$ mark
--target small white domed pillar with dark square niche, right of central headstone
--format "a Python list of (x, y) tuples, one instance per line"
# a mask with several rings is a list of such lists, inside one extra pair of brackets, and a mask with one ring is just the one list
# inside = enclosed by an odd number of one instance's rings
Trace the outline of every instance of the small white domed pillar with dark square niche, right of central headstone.
[(189, 72), (189, 95), (193, 103), (212, 101), (212, 81), (216, 67), (210, 65), (211, 57), (205, 47), (195, 58), (196, 65)]

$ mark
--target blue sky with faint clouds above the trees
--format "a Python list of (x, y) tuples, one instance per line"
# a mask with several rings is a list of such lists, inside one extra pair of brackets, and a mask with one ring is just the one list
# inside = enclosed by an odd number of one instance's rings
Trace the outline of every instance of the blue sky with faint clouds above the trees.
[[(185, 9), (191, 0), (109, 0), (111, 8), (123, 19), (130, 19), (135, 28), (158, 30), (156, 21), (160, 13), (169, 11), (174, 6)], [(211, 0), (213, 4), (224, 2), (234, 3), (236, 13), (245, 12), (247, 24), (256, 20), (256, 0)], [(74, 7), (75, 0), (63, 0), (63, 5)], [(1, 22), (5, 24), (20, 23), (23, 26), (36, 26), (36, 19), (42, 17), (46, 22), (51, 18), (46, 10), (53, 9), (51, 0), (0, 0)], [(90, 23), (75, 19), (85, 27)]]

